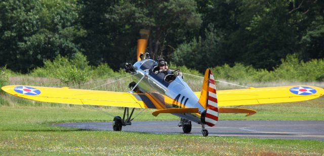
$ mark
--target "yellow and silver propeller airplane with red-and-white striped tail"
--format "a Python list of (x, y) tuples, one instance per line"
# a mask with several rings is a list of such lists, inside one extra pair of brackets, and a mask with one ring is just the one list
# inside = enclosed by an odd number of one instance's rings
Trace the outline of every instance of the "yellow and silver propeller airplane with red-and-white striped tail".
[[(149, 31), (141, 30), (140, 34), (137, 62), (134, 65), (126, 63), (124, 68), (135, 76), (134, 82), (129, 84), (129, 92), (26, 85), (4, 86), (2, 90), (14, 96), (43, 102), (124, 107), (123, 118), (113, 118), (114, 131), (121, 131), (123, 126), (132, 125), (135, 108), (154, 109), (153, 116), (169, 113), (180, 117), (178, 126), (182, 127), (184, 133), (191, 132), (191, 122), (200, 124), (203, 136), (208, 136), (205, 125), (215, 126), (219, 114), (244, 113), (251, 116), (256, 113), (250, 109), (223, 107), (303, 101), (320, 97), (324, 93), (324, 89), (320, 87), (307, 85), (217, 91), (210, 69), (205, 72), (201, 91), (194, 92), (183, 80), (178, 69), (159, 70), (158, 62), (145, 53)], [(132, 108), (131, 114), (129, 108)]]

